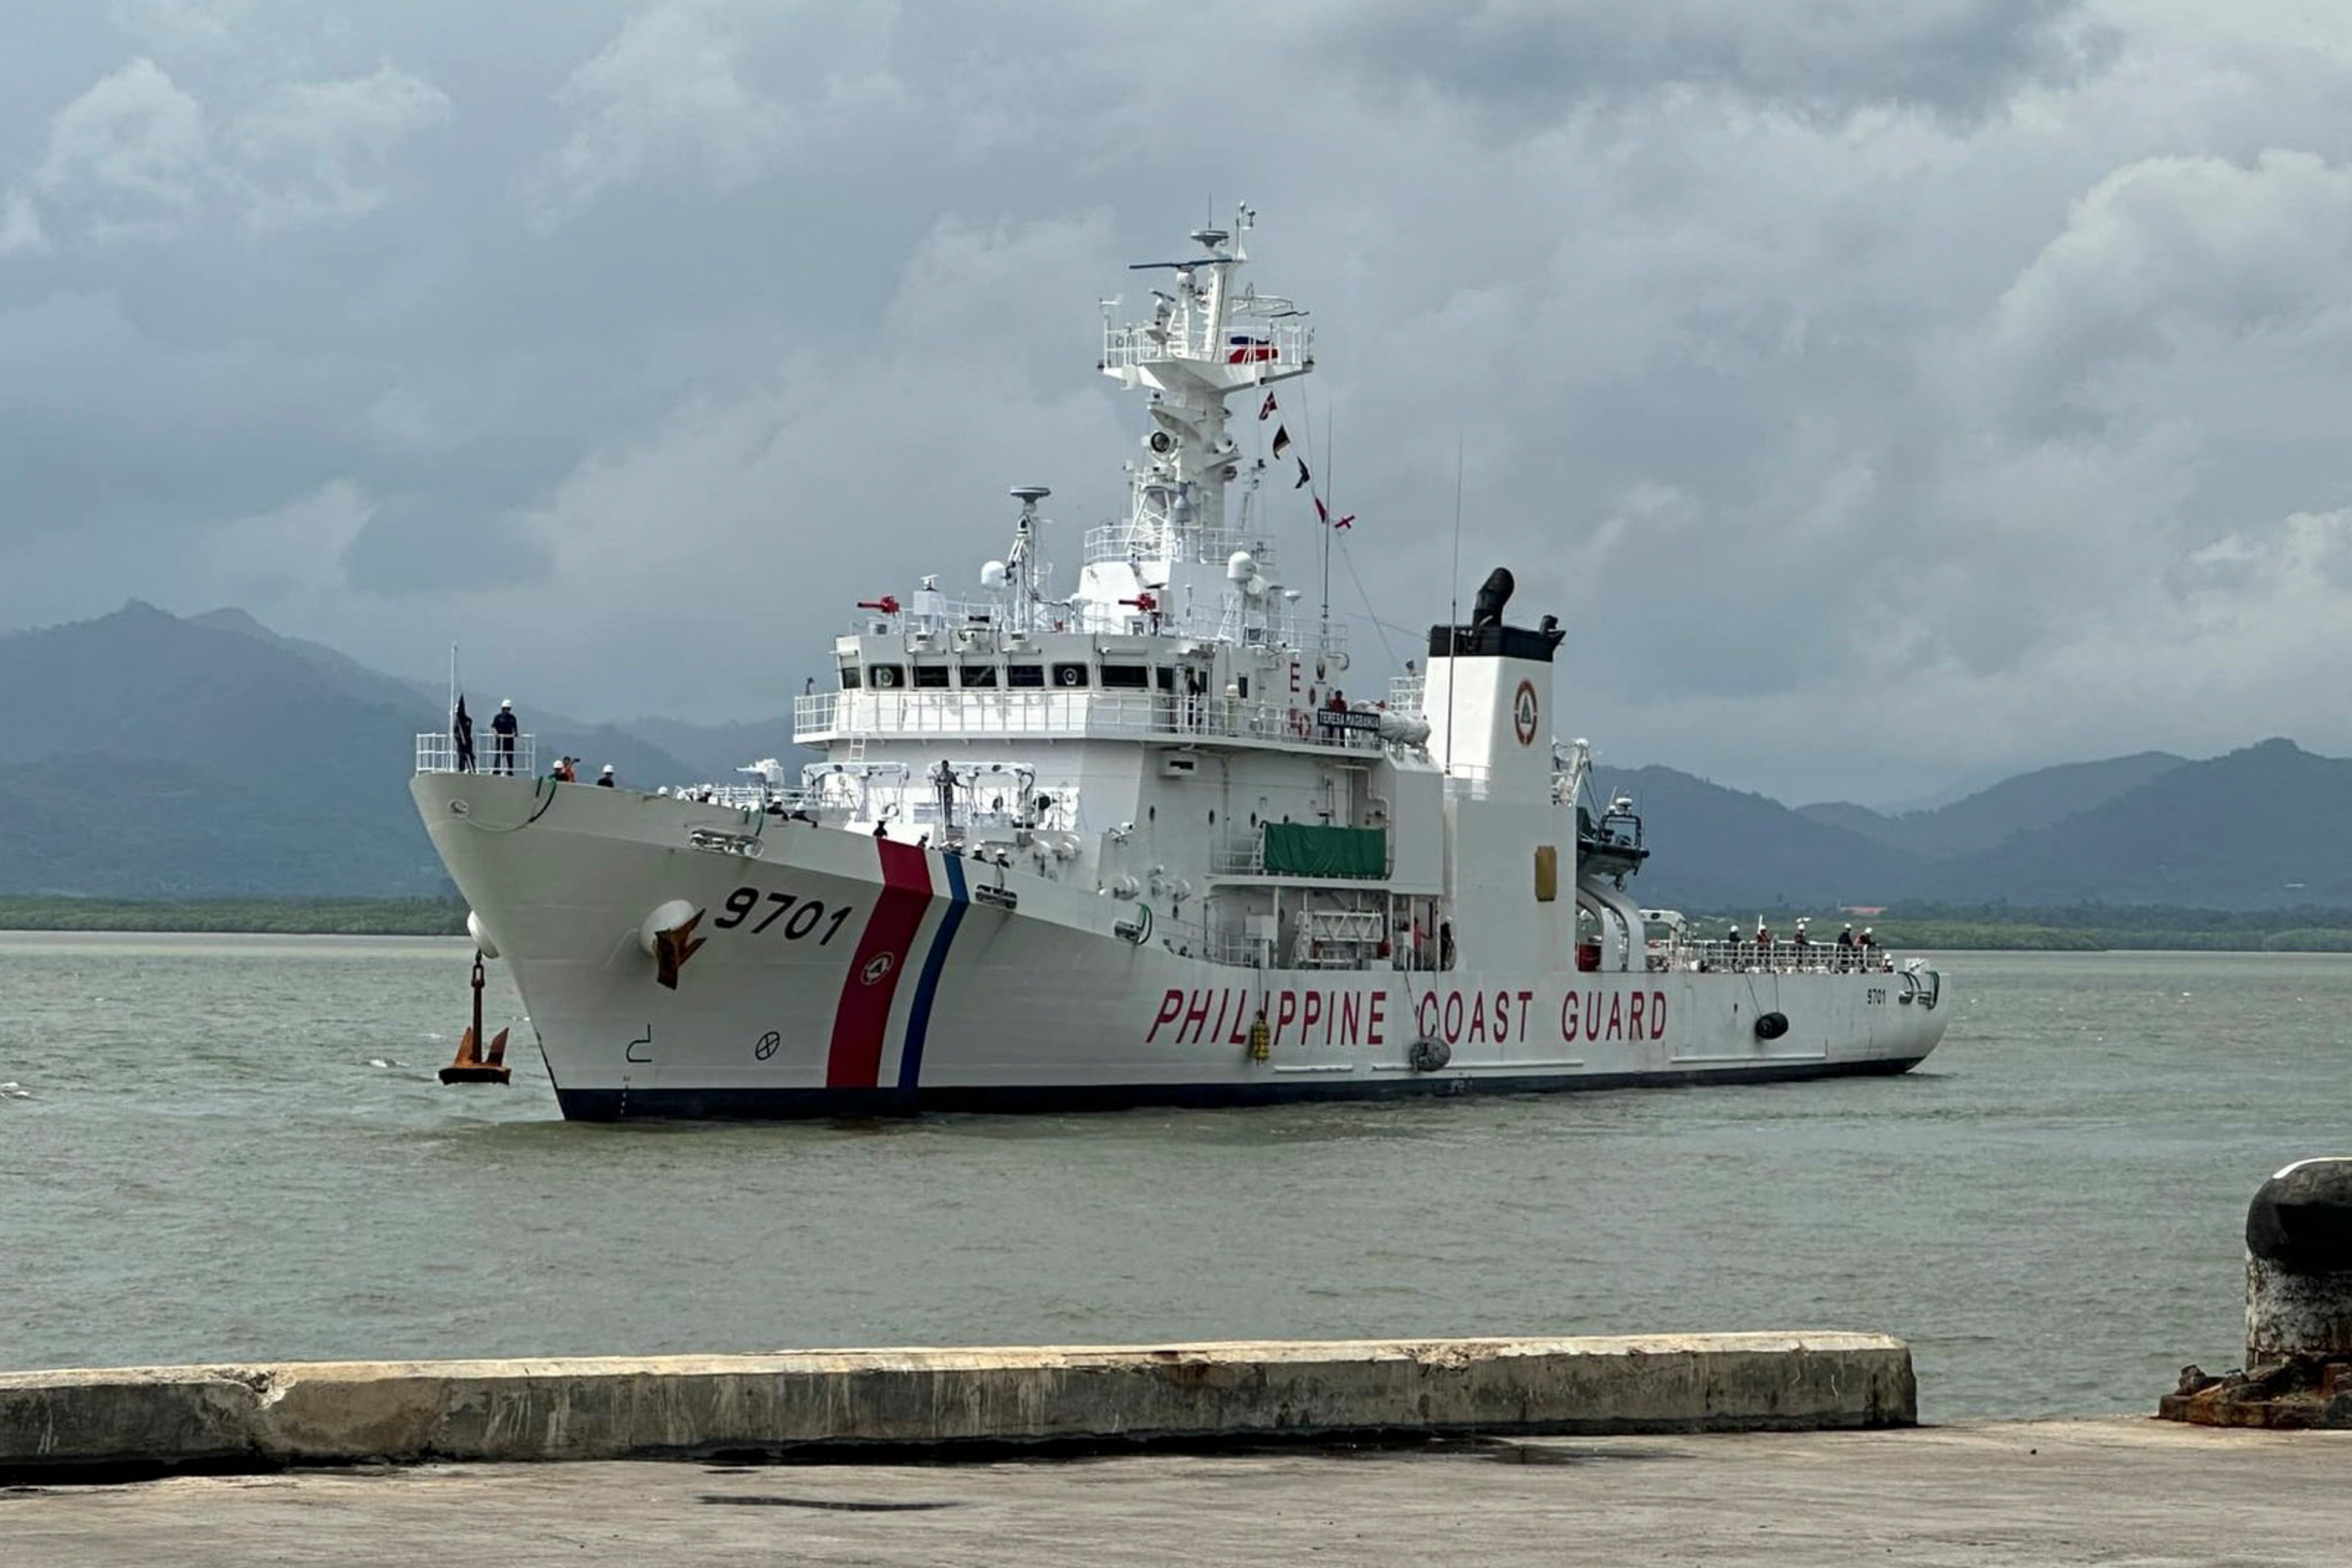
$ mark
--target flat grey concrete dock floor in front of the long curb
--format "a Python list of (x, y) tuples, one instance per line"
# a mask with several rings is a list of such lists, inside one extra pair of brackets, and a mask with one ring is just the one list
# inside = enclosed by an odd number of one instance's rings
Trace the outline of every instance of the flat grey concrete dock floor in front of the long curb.
[(2152, 1420), (995, 1465), (534, 1465), (0, 1490), (9, 1568), (2340, 1568), (2352, 1432)]

